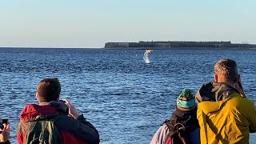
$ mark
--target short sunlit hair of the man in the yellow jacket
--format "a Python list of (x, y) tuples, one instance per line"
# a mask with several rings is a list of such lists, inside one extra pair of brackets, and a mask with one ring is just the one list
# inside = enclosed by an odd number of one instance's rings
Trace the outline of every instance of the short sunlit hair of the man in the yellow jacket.
[(236, 82), (238, 78), (238, 66), (232, 59), (221, 59), (214, 66), (214, 74), (223, 76), (229, 82)]

